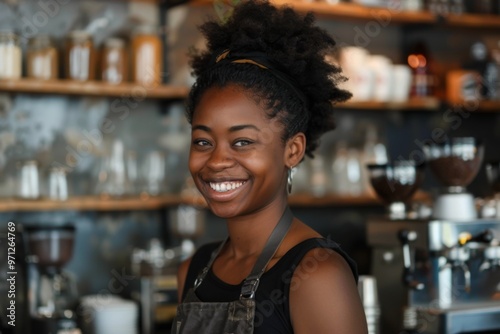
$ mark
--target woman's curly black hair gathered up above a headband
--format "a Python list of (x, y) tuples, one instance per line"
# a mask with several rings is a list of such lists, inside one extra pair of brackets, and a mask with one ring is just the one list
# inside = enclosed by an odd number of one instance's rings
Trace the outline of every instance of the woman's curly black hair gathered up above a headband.
[[(338, 87), (345, 80), (340, 68), (325, 61), (335, 41), (315, 26), (314, 15), (277, 8), (265, 0), (245, 1), (235, 7), (227, 22), (208, 21), (200, 30), (207, 39), (207, 50), (191, 55), (192, 74), (197, 80), (187, 101), (188, 121), (191, 123), (208, 88), (236, 84), (265, 102), (269, 118), (278, 117), (284, 124), (283, 140), (303, 132), (306, 154), (312, 157), (321, 135), (335, 128), (334, 103), (351, 96)], [(224, 50), (264, 53), (275, 68), (291, 78), (307, 103), (269, 70), (253, 64), (214, 65), (215, 57)]]

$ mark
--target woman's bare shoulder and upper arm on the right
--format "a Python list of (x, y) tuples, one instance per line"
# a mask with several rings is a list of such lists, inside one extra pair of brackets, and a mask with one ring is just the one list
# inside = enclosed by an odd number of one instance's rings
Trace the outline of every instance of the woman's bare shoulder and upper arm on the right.
[(352, 270), (332, 249), (310, 250), (290, 284), (294, 332), (366, 334), (366, 318)]

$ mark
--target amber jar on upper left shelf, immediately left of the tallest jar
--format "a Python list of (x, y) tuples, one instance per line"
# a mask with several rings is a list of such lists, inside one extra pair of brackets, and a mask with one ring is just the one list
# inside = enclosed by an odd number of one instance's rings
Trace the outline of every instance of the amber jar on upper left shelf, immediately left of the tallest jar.
[(109, 38), (104, 42), (101, 77), (111, 84), (127, 81), (125, 42), (122, 39)]

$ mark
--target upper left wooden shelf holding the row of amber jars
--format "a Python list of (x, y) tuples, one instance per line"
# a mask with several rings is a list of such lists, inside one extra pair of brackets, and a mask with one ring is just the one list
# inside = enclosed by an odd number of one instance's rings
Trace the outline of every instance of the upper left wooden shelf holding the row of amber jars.
[(111, 85), (105, 82), (71, 80), (0, 80), (0, 92), (58, 94), (143, 99), (183, 99), (188, 88), (183, 86), (146, 87), (134, 83)]

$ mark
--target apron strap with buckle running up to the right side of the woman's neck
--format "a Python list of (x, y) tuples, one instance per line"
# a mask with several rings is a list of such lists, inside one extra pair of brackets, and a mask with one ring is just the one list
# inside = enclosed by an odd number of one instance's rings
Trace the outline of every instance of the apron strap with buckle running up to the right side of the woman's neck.
[(292, 225), (292, 221), (293, 214), (290, 211), (290, 208), (287, 206), (285, 212), (283, 212), (283, 215), (280, 218), (280, 221), (267, 239), (266, 245), (264, 246), (262, 253), (257, 258), (257, 262), (255, 262), (252, 272), (243, 281), (240, 300), (255, 298), (255, 292), (257, 291), (257, 288), (259, 286), (260, 277), (266, 270), (267, 265), (281, 245), (281, 242), (285, 238), (288, 229)]

